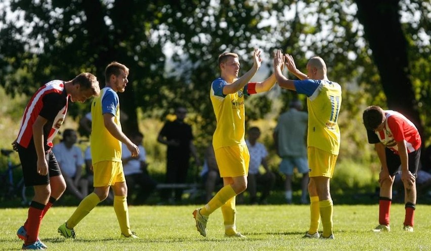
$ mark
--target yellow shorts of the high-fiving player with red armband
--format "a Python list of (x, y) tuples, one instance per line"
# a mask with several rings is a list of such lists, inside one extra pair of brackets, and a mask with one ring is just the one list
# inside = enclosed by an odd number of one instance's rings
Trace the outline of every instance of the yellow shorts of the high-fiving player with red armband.
[(220, 177), (246, 176), (250, 154), (247, 145), (231, 145), (214, 150)]

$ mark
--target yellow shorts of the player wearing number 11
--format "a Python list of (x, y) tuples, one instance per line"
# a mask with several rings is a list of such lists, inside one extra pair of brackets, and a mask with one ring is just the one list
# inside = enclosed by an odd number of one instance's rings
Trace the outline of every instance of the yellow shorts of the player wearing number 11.
[(332, 178), (338, 155), (333, 155), (316, 147), (307, 148), (309, 176), (324, 176)]

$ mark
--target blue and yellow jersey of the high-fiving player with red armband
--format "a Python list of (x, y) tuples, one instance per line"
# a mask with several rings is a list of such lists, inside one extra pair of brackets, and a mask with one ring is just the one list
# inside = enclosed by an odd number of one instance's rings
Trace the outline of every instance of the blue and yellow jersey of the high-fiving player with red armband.
[(210, 98), (217, 120), (217, 127), (212, 137), (214, 149), (245, 144), (244, 95), (250, 94), (247, 90), (250, 85), (255, 86), (255, 83), (245, 85), (236, 93), (224, 95), (223, 87), (227, 84), (221, 77), (212, 81), (211, 84)]

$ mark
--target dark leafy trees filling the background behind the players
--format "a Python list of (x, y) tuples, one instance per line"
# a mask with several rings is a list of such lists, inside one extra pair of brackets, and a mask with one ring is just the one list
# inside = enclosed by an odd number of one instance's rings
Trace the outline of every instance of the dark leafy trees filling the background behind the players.
[[(270, 69), (273, 50), (282, 48), (299, 69), (313, 55), (326, 61), (328, 77), (343, 88), (340, 126), (354, 142), (363, 139), (349, 120), (371, 104), (401, 110), (422, 128), (431, 120), (431, 4), (374, 2), (11, 0), (0, 8), (0, 82), (8, 93), (30, 94), (51, 79), (89, 71), (103, 87), (105, 66), (118, 61), (130, 68), (120, 95), (125, 131), (138, 128), (137, 108), (162, 117), (183, 105), (197, 114), (207, 139), (215, 126), (208, 93), (218, 55), (238, 53), (244, 73), (253, 47)], [(250, 98), (247, 119), (264, 118), (275, 101), (284, 107), (294, 95)], [(88, 104), (71, 113), (85, 110)], [(427, 139), (431, 128), (421, 131)]]

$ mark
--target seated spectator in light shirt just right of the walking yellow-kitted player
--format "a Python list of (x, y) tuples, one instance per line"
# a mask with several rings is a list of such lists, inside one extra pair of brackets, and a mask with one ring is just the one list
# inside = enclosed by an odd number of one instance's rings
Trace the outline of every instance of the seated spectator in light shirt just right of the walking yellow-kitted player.
[[(128, 187), (127, 197), (130, 204), (140, 205), (145, 203), (145, 200), (156, 188), (157, 182), (148, 174), (146, 152), (144, 146), (142, 146), (144, 135), (140, 132), (135, 132), (129, 138), (138, 146), (139, 155), (132, 157), (131, 153), (127, 150), (123, 150), (121, 153), (124, 176)], [(127, 146), (122, 144), (122, 148), (126, 149)], [(139, 192), (136, 197), (133, 197), (132, 193), (135, 191), (136, 186), (139, 186)]]

